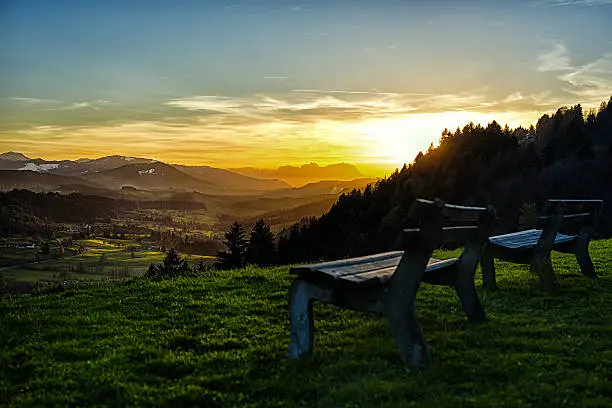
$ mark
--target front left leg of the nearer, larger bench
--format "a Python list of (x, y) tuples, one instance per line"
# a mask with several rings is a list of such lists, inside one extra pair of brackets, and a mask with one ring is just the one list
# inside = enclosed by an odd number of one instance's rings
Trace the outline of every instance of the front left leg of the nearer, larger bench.
[(312, 353), (314, 342), (312, 302), (314, 300), (330, 300), (329, 291), (296, 278), (289, 288), (290, 358), (297, 359)]

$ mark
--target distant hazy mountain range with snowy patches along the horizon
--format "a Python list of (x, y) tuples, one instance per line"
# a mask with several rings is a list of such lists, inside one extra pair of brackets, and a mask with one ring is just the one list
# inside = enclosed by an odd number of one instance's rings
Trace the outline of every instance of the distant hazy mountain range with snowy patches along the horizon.
[[(122, 196), (134, 196), (136, 192), (144, 191), (197, 191), (225, 196), (271, 194), (275, 197), (303, 197), (313, 194), (338, 194), (346, 188), (359, 188), (365, 185), (364, 183), (375, 181), (359, 179), (362, 177), (361, 173), (346, 163), (324, 167), (314, 163), (302, 167), (282, 166), (267, 173), (261, 169), (252, 170), (243, 169), (244, 174), (241, 174), (210, 166), (172, 165), (148, 158), (118, 155), (97, 159), (44, 160), (29, 158), (18, 152), (6, 152), (0, 154), (0, 190), (24, 188), (32, 191), (78, 192), (106, 196), (117, 196), (118, 193)], [(256, 177), (256, 174), (262, 177)], [(274, 174), (295, 179), (326, 178), (328, 181), (293, 188), (289, 183), (273, 178)], [(353, 179), (359, 180), (351, 183), (350, 180)]]

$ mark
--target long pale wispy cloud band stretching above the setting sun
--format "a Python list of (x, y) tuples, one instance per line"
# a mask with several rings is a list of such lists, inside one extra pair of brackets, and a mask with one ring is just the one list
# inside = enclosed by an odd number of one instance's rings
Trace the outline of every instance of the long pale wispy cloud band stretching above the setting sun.
[(360, 122), (409, 113), (471, 110), (497, 105), (480, 92), (462, 94), (400, 94), (360, 90), (297, 89), (281, 94), (243, 97), (194, 95), (165, 105), (225, 120), (260, 122)]

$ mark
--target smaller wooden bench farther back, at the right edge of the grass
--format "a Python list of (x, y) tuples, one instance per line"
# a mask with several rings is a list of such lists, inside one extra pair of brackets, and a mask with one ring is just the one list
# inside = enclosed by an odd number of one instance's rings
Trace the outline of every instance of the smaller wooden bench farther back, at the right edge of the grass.
[(498, 258), (530, 265), (530, 270), (540, 276), (543, 290), (553, 292), (559, 287), (550, 262), (553, 250), (574, 254), (582, 273), (597, 277), (589, 255), (589, 241), (602, 206), (602, 200), (547, 200), (538, 219), (541, 229), (490, 237), (480, 260), (483, 286), (497, 287), (494, 258)]

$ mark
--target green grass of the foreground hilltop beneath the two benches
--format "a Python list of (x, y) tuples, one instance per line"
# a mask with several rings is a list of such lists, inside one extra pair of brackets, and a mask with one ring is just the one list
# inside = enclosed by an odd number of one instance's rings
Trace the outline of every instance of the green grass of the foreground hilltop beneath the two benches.
[[(466, 321), (454, 291), (423, 285), (417, 310), (433, 365), (399, 361), (376, 314), (315, 306), (312, 357), (286, 358), (288, 267), (194, 279), (92, 283), (0, 307), (0, 401), (30, 406), (612, 406), (612, 240), (591, 244), (600, 277), (554, 254), (561, 290), (498, 263)], [(450, 255), (449, 253), (442, 254)], [(0, 402), (0, 405), (2, 403)]]

